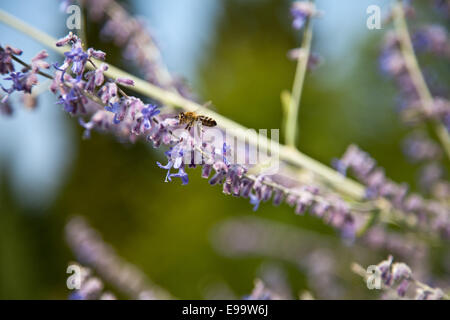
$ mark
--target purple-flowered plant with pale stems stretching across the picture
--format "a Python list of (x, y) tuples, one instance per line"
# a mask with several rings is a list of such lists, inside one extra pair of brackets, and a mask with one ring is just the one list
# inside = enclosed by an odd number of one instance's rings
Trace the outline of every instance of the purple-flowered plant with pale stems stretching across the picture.
[[(70, 4), (63, 1), (64, 8)], [(165, 171), (161, 181), (188, 185), (189, 168), (201, 167), (201, 176), (210, 185), (221, 185), (225, 195), (248, 198), (253, 210), (264, 202), (271, 201), (274, 206), (286, 203), (295, 214), (309, 213), (334, 227), (350, 246), (402, 255), (411, 243), (420, 242), (423, 247), (427, 242), (449, 240), (450, 184), (444, 168), (450, 158), (450, 104), (445, 97), (432, 95), (416, 55), (430, 52), (448, 59), (450, 45), (445, 30), (438, 26), (427, 26), (412, 36), (406, 22), (412, 10), (408, 5), (394, 1), (388, 17), (393, 29), (386, 33), (379, 63), (398, 87), (401, 118), (420, 131), (405, 140), (404, 151), (424, 164), (424, 194), (411, 192), (406, 184), (388, 178), (376, 160), (356, 145), (335, 159), (335, 169), (296, 148), (303, 84), (308, 71), (320, 64), (318, 55), (311, 52), (311, 43), (314, 20), (323, 14), (314, 2), (296, 1), (291, 6), (292, 26), (302, 34), (302, 41), (299, 48), (289, 52), (297, 67), (291, 91), (282, 95), (285, 144), (277, 141), (277, 131), (269, 138), (267, 130), (249, 130), (199, 103), (168, 71), (142, 23), (118, 3), (95, 0), (80, 4), (90, 19), (103, 25), (102, 36), (120, 46), (124, 57), (139, 67), (143, 79), (107, 63), (107, 52), (86, 48), (82, 32), (54, 39), (1, 10), (0, 22), (62, 55), (59, 61), (49, 62), (48, 53), (42, 50), (31, 61), (24, 61), (20, 44), (2, 44), (0, 73), (8, 82), (2, 86), (2, 114), (13, 113), (10, 96), (15, 94), (24, 95), (29, 105), (35, 105), (36, 92), (45, 84), (41, 79), (47, 79), (56, 103), (85, 129), (84, 138), (100, 131), (119, 141), (143, 140), (154, 148), (163, 147), (165, 159), (156, 162)], [(180, 121), (187, 115), (190, 122)], [(420, 130), (423, 126), (430, 127), (431, 134)], [(312, 178), (304, 181), (300, 171)], [(88, 267), (97, 268), (101, 275), (101, 268), (93, 264)], [(392, 265), (393, 277), (400, 281), (393, 287), (394, 281), (386, 279), (389, 268), (391, 264), (378, 265), (384, 285), (397, 290), (401, 298), (406, 297), (407, 286), (420, 283), (413, 298), (448, 299), (441, 289), (417, 282), (403, 264)], [(259, 281), (252, 295), (276, 296)]]

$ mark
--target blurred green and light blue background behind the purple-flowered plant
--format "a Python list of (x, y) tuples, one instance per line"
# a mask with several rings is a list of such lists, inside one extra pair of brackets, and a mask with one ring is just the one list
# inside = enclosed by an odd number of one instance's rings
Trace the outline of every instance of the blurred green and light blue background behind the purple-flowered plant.
[[(299, 149), (330, 164), (356, 143), (393, 180), (414, 189), (417, 167), (401, 152), (409, 129), (395, 112), (392, 81), (378, 68), (381, 39), (390, 26), (367, 29), (366, 8), (372, 2), (316, 1), (323, 15), (314, 22), (313, 52), (322, 64), (307, 75)], [(287, 52), (300, 43), (289, 1), (121, 3), (146, 22), (170, 71), (182, 76), (201, 101), (211, 100), (217, 112), (247, 127), (280, 128), (280, 93), (290, 90), (295, 70)], [(377, 4), (388, 11), (389, 1)], [(68, 32), (58, 1), (2, 1), (0, 7), (54, 37)], [(421, 22), (441, 18), (428, 6), (417, 12)], [(109, 63), (139, 74), (123, 61), (119, 48), (100, 41), (99, 28), (87, 24), (89, 46), (106, 51)], [(42, 49), (4, 25), (0, 34), (2, 45), (24, 51), (24, 60)], [(49, 60), (62, 59), (51, 53)], [(432, 67), (433, 62), (424, 63)], [(448, 73), (444, 76), (441, 81), (448, 82)], [(64, 226), (75, 215), (178, 298), (242, 298), (255, 278), (284, 286), (279, 290), (292, 297), (304, 290), (317, 298), (370, 297), (350, 262), (377, 263), (386, 252), (348, 248), (321, 221), (296, 216), (286, 205), (263, 204), (254, 213), (247, 199), (223, 195), (221, 187), (200, 178), (199, 170), (190, 171), (187, 186), (164, 183), (165, 172), (156, 166), (164, 162), (164, 150), (99, 133), (83, 140), (82, 128), (55, 101), (45, 93), (30, 111), (16, 100), (15, 114), (0, 118), (1, 299), (68, 296), (66, 268), (74, 256), (64, 241)], [(280, 240), (280, 234), (294, 242)], [(254, 247), (240, 250), (248, 241)], [(330, 282), (317, 283), (320, 272), (329, 274)]]

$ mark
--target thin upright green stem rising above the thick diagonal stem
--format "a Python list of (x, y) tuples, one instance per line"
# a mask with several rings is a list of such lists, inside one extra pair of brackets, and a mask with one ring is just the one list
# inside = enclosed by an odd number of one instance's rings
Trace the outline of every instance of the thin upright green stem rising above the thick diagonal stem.
[(306, 70), (308, 69), (308, 59), (311, 50), (312, 21), (306, 21), (303, 33), (302, 45), (297, 58), (297, 69), (295, 71), (294, 83), (292, 85), (292, 96), (286, 119), (286, 145), (295, 147), (298, 133), (298, 113), (300, 109), (300, 99), (302, 96), (303, 83), (305, 81)]

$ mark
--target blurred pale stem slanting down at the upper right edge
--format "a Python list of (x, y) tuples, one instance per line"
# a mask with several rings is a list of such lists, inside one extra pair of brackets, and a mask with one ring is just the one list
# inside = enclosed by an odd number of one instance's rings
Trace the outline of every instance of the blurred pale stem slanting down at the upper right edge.
[[(409, 34), (401, 0), (397, 0), (397, 3), (394, 5), (393, 15), (394, 26), (400, 40), (400, 50), (405, 59), (406, 68), (408, 69), (408, 73), (419, 95), (423, 110), (427, 115), (430, 115), (433, 105), (433, 96), (428, 89), (417, 61), (416, 54), (414, 53), (414, 47), (411, 42), (411, 36)], [(450, 135), (447, 129), (439, 120), (431, 120), (431, 125), (433, 126), (447, 157), (450, 159)]]

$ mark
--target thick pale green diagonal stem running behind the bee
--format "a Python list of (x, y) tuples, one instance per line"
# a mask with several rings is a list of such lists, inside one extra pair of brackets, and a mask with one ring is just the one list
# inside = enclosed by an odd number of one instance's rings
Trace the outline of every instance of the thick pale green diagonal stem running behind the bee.
[[(32, 37), (34, 40), (61, 54), (70, 50), (70, 48), (67, 46), (56, 47), (56, 39), (50, 37), (42, 31), (36, 30), (34, 27), (26, 24), (25, 22), (17, 19), (14, 16), (9, 15), (1, 9), (0, 22), (3, 22), (4, 24), (7, 24), (12, 28), (21, 31), (22, 33)], [(100, 63), (100, 61), (96, 60), (94, 60), (94, 62)], [(92, 66), (90, 66), (89, 64), (87, 65), (87, 67), (92, 68)], [(259, 135), (254, 131), (247, 131), (248, 129), (246, 127), (209, 109), (206, 109), (196, 102), (190, 101), (177, 93), (154, 86), (114, 66), (109, 65), (109, 69), (105, 72), (105, 75), (113, 79), (117, 79), (119, 77), (131, 79), (134, 81), (134, 86), (128, 87), (129, 89), (152, 99), (156, 99), (161, 103), (177, 106), (187, 111), (201, 110), (201, 112), (206, 116), (214, 118), (217, 121), (218, 126), (226, 129), (227, 133), (229, 133), (231, 136), (242, 137), (242, 133), (245, 132), (248, 143), (259, 146), (262, 152), (271, 151), (274, 157), (279, 156), (281, 160), (284, 160), (291, 165), (302, 167), (312, 171), (322, 181), (325, 181), (326, 183), (332, 185), (335, 190), (338, 190), (352, 198), (355, 198), (357, 200), (364, 198), (364, 187), (361, 184), (355, 182), (352, 179), (342, 176), (330, 167), (320, 163), (317, 160), (312, 159), (311, 157), (301, 153), (298, 150), (295, 150), (289, 146), (281, 145), (278, 142), (270, 140), (263, 135)], [(275, 154), (275, 150), (278, 150), (278, 154)]]

